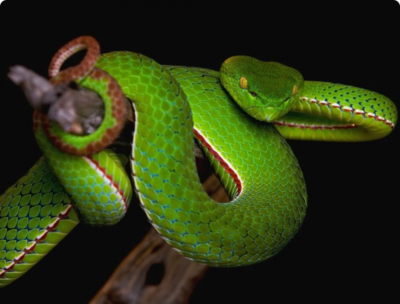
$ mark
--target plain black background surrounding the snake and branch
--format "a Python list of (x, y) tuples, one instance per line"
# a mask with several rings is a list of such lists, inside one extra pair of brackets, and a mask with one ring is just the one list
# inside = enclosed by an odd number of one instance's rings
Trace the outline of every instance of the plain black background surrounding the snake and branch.
[[(219, 69), (232, 55), (278, 61), (307, 80), (380, 92), (400, 108), (400, 2), (382, 2), (300, 7), (296, 1), (279, 11), (241, 3), (233, 12), (1, 1), (0, 193), (41, 155), (31, 131), (32, 110), (6, 78), (9, 66), (22, 64), (46, 75), (59, 47), (92, 35), (103, 52), (136, 51), (162, 64)], [(301, 231), (261, 264), (211, 269), (191, 303), (398, 299), (398, 130), (367, 143), (290, 145), (309, 194)], [(0, 290), (0, 302), (88, 302), (149, 227), (137, 201), (115, 227), (79, 225), (39, 265)]]

